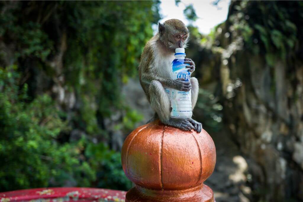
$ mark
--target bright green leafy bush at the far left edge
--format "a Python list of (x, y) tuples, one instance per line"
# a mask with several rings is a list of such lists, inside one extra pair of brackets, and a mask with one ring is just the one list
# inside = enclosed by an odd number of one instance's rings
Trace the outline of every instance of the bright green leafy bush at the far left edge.
[[(28, 102), (15, 67), (0, 69), (0, 189), (45, 187), (78, 166), (78, 152), (55, 138), (66, 124), (44, 94)], [(60, 165), (60, 166), (58, 166)]]

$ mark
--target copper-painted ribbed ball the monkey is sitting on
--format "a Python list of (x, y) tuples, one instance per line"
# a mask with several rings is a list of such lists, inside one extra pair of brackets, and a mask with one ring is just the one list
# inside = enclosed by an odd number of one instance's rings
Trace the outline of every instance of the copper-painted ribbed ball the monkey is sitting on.
[(142, 189), (185, 190), (203, 185), (215, 163), (215, 144), (205, 130), (182, 131), (158, 120), (132, 131), (122, 146), (123, 170)]

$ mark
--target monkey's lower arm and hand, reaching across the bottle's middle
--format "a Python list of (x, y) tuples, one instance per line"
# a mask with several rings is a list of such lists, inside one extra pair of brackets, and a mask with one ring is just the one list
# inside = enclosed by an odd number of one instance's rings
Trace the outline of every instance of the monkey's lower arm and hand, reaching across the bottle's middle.
[(153, 80), (159, 81), (162, 85), (168, 88), (174, 88), (179, 91), (189, 91), (191, 89), (190, 81), (184, 81), (184, 78), (173, 80), (171, 78), (166, 78), (157, 74), (153, 71), (153, 67), (148, 68), (147, 71), (143, 71), (141, 75), (141, 80), (145, 83), (150, 83)]

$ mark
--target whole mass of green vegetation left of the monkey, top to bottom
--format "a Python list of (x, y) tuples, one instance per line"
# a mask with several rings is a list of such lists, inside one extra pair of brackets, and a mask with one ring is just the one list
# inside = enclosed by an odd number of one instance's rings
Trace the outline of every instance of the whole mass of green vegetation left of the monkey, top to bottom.
[[(110, 132), (129, 131), (142, 119), (121, 87), (136, 75), (158, 5), (0, 2), (0, 190), (131, 186), (120, 153), (103, 143), (104, 123), (122, 114)], [(67, 94), (75, 97), (72, 107)], [(72, 139), (73, 130), (81, 137)]]

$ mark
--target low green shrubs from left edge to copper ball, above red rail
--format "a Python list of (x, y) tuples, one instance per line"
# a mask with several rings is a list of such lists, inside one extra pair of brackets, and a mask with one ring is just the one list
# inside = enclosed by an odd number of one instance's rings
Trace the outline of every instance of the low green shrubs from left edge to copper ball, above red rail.
[(67, 180), (84, 187), (131, 187), (122, 170), (120, 153), (85, 137), (78, 142), (58, 143), (60, 132), (69, 130), (67, 123), (47, 94), (27, 103), (27, 85), (19, 88), (19, 78), (15, 67), (0, 68), (1, 190), (60, 186)]

